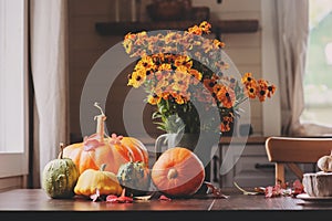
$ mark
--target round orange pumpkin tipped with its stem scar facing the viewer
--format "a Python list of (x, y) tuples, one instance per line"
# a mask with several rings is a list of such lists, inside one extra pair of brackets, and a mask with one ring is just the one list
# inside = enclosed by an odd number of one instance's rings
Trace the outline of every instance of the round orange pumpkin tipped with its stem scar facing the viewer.
[(164, 151), (153, 166), (152, 180), (156, 188), (172, 197), (189, 197), (205, 179), (200, 159), (190, 150), (174, 147)]

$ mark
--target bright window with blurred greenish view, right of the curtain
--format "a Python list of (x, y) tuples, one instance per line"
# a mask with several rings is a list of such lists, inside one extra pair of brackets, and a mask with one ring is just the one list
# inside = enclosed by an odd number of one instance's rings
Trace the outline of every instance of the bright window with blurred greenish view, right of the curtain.
[(332, 1), (310, 1), (302, 122), (332, 126)]

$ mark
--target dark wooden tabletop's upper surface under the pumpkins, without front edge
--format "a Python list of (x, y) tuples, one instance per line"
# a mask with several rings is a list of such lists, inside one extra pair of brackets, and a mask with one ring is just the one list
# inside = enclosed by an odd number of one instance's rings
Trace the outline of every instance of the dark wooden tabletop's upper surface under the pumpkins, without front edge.
[(293, 197), (266, 198), (263, 194), (245, 196), (239, 191), (226, 189), (229, 198), (214, 198), (211, 194), (194, 196), (189, 199), (170, 201), (153, 198), (134, 203), (111, 203), (85, 198), (51, 199), (41, 189), (15, 189), (0, 193), (0, 211), (107, 211), (107, 210), (331, 210), (332, 200), (304, 201)]

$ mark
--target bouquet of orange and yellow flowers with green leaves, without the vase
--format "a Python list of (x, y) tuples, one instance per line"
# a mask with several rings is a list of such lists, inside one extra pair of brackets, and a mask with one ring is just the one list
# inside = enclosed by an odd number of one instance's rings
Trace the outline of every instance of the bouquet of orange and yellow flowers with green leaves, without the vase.
[(225, 43), (204, 38), (210, 29), (204, 21), (184, 32), (125, 35), (126, 53), (137, 57), (127, 85), (145, 90), (146, 102), (156, 107), (152, 118), (166, 133), (229, 131), (246, 99), (263, 102), (276, 92), (249, 72), (238, 78), (226, 74)]

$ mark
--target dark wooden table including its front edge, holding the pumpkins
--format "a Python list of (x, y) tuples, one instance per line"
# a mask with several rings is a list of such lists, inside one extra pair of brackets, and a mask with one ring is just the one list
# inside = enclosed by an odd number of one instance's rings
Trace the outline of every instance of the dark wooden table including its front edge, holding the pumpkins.
[[(209, 214), (214, 215), (220, 215), (225, 212), (226, 214), (232, 215), (250, 212), (253, 217), (257, 212), (258, 214), (261, 214), (261, 212), (269, 212), (270, 214), (272, 212), (273, 217), (281, 215), (282, 213), (280, 212), (287, 212), (286, 214), (290, 217), (292, 213), (289, 212), (295, 212), (294, 215), (299, 215), (299, 211), (309, 211), (314, 212), (313, 215), (315, 218), (318, 218), (318, 215), (331, 215), (332, 213), (332, 201), (310, 202), (292, 197), (266, 198), (263, 194), (245, 196), (234, 189), (226, 189), (222, 192), (229, 196), (229, 198), (217, 199), (208, 194), (204, 197), (194, 196), (190, 199), (172, 199), (170, 201), (162, 201), (158, 200), (158, 198), (153, 198), (149, 201), (134, 201), (133, 203), (110, 203), (105, 201), (93, 202), (76, 197), (73, 199), (55, 200), (49, 198), (41, 189), (15, 189), (0, 193), (0, 217), (1, 214), (6, 214), (6, 212), (10, 212), (11, 215), (19, 215), (21, 214), (20, 212), (31, 211), (37, 214), (53, 212), (53, 218), (63, 212), (76, 212), (75, 214), (80, 212), (80, 214), (84, 214), (85, 218), (91, 214), (90, 212), (95, 212), (94, 214), (117, 212), (117, 215), (120, 212), (122, 218), (124, 218), (124, 215), (133, 215), (131, 212), (134, 212), (135, 217), (139, 214), (146, 215), (146, 212), (148, 212), (148, 214), (153, 212), (152, 214), (158, 217), (158, 220), (160, 220), (159, 214), (155, 212), (168, 212), (172, 215), (177, 214), (177, 212), (186, 212), (196, 218), (200, 214), (197, 212), (206, 211), (210, 211), (211, 213)], [(123, 213), (124, 211), (126, 212)], [(139, 213), (136, 213), (138, 211)], [(273, 213), (274, 211), (278, 211), (278, 213)], [(326, 212), (329, 212), (329, 214), (326, 214)], [(166, 219), (168, 213), (163, 213), (162, 217)], [(304, 217), (308, 218), (309, 214), (311, 213), (304, 213)], [(23, 215), (27, 217), (29, 213), (23, 213)], [(111, 213), (108, 215), (112, 217), (113, 214)], [(207, 218), (206, 214), (201, 215)]]

